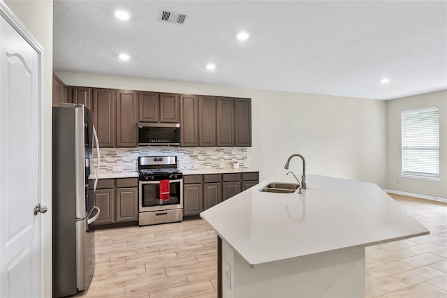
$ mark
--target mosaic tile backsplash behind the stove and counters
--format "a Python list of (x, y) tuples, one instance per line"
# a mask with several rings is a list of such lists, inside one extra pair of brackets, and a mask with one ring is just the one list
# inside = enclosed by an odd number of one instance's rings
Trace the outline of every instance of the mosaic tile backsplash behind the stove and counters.
[(247, 167), (247, 147), (137, 147), (101, 148), (99, 172), (134, 172), (138, 156), (177, 156), (183, 169), (229, 169), (239, 162)]

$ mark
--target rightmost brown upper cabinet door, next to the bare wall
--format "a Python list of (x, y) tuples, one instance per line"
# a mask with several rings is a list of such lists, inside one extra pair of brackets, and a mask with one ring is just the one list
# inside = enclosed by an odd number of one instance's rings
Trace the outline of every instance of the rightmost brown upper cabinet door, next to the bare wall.
[(251, 147), (250, 98), (235, 98), (235, 146)]

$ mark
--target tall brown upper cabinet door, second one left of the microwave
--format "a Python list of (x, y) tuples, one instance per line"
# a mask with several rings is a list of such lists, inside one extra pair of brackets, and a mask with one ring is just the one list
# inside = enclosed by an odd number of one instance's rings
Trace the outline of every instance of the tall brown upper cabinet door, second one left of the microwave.
[(115, 147), (116, 100), (114, 89), (93, 89), (93, 122), (98, 134), (99, 147)]

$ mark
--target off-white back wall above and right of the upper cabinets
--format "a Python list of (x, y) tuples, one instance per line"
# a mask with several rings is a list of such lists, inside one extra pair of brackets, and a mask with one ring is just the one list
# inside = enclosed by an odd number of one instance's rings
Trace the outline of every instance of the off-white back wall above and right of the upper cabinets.
[[(307, 174), (372, 181), (386, 186), (386, 102), (259, 89), (57, 72), (68, 85), (252, 98), (249, 167), (261, 179), (284, 175), (293, 153)], [(301, 174), (301, 161), (290, 170)], [(311, 186), (309, 186), (311, 187)]]

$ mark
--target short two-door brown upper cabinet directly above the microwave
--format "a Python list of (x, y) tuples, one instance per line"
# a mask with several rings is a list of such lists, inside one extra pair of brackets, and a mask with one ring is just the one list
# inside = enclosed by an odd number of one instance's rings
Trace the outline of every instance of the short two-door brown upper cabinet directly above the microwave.
[(139, 121), (179, 123), (179, 94), (155, 93), (140, 91)]

